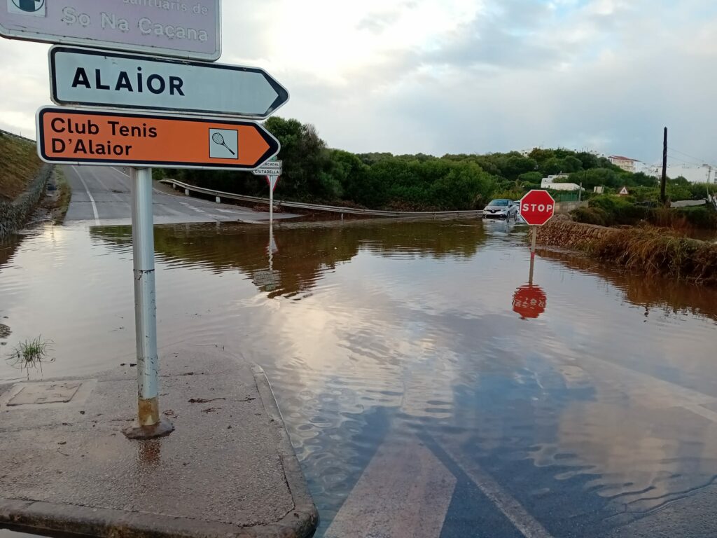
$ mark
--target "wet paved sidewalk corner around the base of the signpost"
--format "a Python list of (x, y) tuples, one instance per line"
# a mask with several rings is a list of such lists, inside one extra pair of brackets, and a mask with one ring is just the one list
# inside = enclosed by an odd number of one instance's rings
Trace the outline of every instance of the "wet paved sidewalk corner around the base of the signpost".
[[(98, 537), (310, 537), (318, 514), (261, 369), (160, 351), (167, 438), (128, 440), (136, 368), (0, 393), (0, 526)], [(65, 401), (69, 400), (69, 401)]]

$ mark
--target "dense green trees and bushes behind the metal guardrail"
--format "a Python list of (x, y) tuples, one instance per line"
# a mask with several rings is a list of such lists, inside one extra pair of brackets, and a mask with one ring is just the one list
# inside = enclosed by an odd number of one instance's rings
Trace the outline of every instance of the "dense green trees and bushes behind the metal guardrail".
[[(541, 179), (567, 174), (560, 181), (583, 184), (584, 197), (593, 187), (617, 194), (622, 187), (634, 192), (630, 202), (657, 202), (657, 179), (619, 169), (608, 159), (589, 152), (534, 148), (527, 154), (352, 154), (329, 148), (315, 127), (277, 116), (265, 122), (281, 142), (279, 159), (284, 170), (279, 184), (281, 199), (334, 204), (346, 207), (394, 210), (482, 209), (493, 198), (519, 199), (538, 189)], [(171, 176), (238, 194), (265, 196), (266, 181), (247, 172), (163, 170), (155, 178)], [(576, 194), (554, 192), (556, 199)], [(668, 196), (693, 199), (706, 196), (706, 186), (693, 186), (684, 178), (670, 180)], [(639, 210), (636, 210), (636, 214)], [(614, 218), (613, 218), (614, 217)], [(583, 218), (579, 216), (578, 218)], [(621, 224), (617, 215), (587, 212), (586, 222)], [(639, 220), (639, 218), (637, 219)]]

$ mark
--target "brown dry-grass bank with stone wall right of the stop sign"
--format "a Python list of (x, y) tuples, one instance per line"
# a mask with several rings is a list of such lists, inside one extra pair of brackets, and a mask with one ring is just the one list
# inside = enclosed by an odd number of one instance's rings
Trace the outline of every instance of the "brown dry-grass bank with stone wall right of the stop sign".
[(636, 273), (717, 285), (717, 245), (663, 228), (609, 228), (556, 220), (538, 229), (538, 243), (581, 250)]

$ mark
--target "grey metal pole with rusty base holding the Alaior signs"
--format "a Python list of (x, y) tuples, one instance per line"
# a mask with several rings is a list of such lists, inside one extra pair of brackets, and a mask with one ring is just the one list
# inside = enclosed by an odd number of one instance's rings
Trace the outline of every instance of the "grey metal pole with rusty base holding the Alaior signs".
[(137, 339), (137, 423), (124, 430), (132, 439), (168, 435), (174, 426), (159, 415), (159, 361), (154, 287), (154, 221), (152, 170), (130, 169), (132, 183), (132, 250)]

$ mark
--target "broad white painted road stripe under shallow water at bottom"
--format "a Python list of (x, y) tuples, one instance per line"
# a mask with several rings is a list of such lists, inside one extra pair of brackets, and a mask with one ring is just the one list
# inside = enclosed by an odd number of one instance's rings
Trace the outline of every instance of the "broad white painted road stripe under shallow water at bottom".
[(437, 538), (456, 478), (413, 435), (391, 435), (376, 451), (326, 538)]

